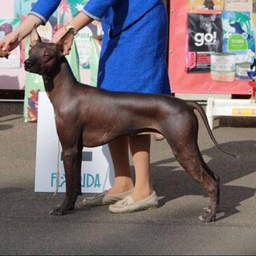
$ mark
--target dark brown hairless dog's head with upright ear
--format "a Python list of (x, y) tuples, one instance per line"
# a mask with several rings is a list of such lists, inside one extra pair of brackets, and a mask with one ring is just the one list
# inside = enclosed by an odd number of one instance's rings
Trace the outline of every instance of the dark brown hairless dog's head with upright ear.
[(24, 62), (25, 70), (39, 75), (55, 71), (64, 56), (58, 43), (42, 42), (36, 29), (31, 33), (31, 49), (28, 55)]

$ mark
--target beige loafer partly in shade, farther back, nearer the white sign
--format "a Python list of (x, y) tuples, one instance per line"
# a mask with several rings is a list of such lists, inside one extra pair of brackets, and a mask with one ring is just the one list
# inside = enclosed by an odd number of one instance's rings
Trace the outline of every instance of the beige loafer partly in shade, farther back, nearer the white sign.
[(83, 199), (83, 205), (106, 205), (113, 204), (121, 199), (124, 199), (127, 195), (131, 194), (132, 190), (125, 191), (123, 193), (108, 195), (107, 191), (97, 194), (96, 196), (86, 197)]

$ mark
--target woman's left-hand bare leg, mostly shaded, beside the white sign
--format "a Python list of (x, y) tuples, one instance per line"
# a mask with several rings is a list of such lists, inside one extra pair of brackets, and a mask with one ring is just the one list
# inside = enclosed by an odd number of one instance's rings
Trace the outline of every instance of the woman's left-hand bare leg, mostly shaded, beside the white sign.
[(128, 137), (118, 138), (110, 143), (108, 147), (111, 153), (116, 184), (108, 190), (108, 194), (122, 193), (131, 190), (134, 185), (130, 172), (129, 155), (128, 155)]

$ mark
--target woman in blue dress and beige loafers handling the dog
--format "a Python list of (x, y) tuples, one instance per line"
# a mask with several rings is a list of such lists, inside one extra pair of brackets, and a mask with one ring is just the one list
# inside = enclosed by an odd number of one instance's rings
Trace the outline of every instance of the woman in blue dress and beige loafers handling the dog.
[[(39, 0), (16, 31), (0, 41), (12, 51), (34, 27), (45, 24), (60, 0)], [(93, 20), (103, 25), (98, 87), (115, 92), (170, 94), (166, 65), (167, 12), (162, 0), (90, 0), (55, 34), (68, 54), (74, 34)], [(104, 106), (103, 106), (104, 107)], [(122, 117), (117, 117), (116, 122)], [(83, 204), (110, 204), (111, 212), (133, 212), (158, 204), (150, 175), (150, 135), (121, 137), (108, 144), (115, 168), (115, 186)], [(129, 169), (128, 146), (135, 165), (135, 186)], [(115, 203), (115, 204), (113, 204)]]

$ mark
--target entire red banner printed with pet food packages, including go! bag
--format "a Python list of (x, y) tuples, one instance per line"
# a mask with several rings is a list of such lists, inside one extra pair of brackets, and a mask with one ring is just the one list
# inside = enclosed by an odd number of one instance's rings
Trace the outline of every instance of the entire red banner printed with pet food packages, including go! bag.
[(250, 94), (256, 0), (173, 0), (170, 13), (172, 92)]

